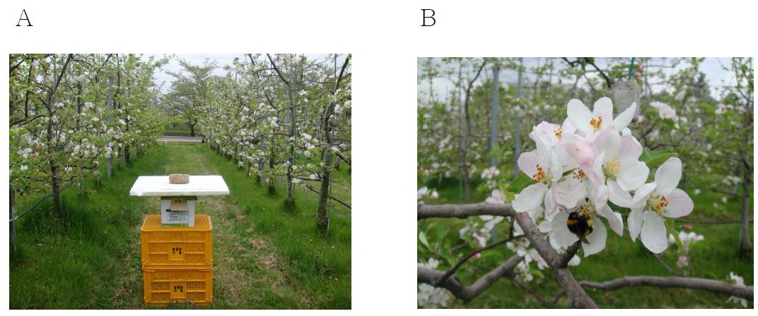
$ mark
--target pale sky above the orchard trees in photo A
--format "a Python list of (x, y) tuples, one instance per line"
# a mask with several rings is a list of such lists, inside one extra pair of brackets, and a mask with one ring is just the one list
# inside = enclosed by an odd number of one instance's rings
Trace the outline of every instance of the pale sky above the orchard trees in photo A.
[[(205, 60), (215, 61), (218, 67), (214, 71), (215, 74), (223, 76), (226, 74), (224, 66), (232, 64), (234, 58), (245, 59), (245, 54), (146, 54), (146, 56), (155, 56), (161, 58), (165, 56), (171, 57), (171, 60), (161, 70), (155, 73), (155, 83), (161, 86), (161, 91), (168, 92), (171, 88), (171, 82), (174, 82), (174, 77), (169, 75), (167, 71), (179, 72), (182, 67), (179, 64), (179, 60), (187, 60), (190, 64), (202, 65)], [(329, 54), (305, 54), (311, 60), (324, 60)], [(337, 67), (340, 67), (345, 62), (346, 54), (340, 54), (337, 57)]]

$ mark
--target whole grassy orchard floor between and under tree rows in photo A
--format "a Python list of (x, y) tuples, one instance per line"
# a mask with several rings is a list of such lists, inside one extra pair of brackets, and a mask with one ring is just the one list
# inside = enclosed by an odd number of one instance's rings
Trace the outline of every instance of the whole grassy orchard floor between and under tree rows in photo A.
[[(209, 308), (350, 308), (349, 210), (335, 204), (330, 231), (321, 234), (315, 194), (296, 191), (297, 208), (285, 212), (283, 190), (267, 196), (255, 178), (203, 144), (152, 147), (113, 178), (88, 183), (89, 194), (69, 189), (62, 218), (49, 201), (25, 215), (11, 253), (10, 307), (144, 308), (139, 226), (144, 215), (159, 212), (158, 198), (128, 192), (139, 175), (176, 172), (220, 174), (230, 187), (230, 196), (200, 197), (196, 206), (214, 226)], [(349, 173), (337, 178), (348, 184), (335, 190), (349, 190)], [(34, 201), (18, 199), (17, 209)]]

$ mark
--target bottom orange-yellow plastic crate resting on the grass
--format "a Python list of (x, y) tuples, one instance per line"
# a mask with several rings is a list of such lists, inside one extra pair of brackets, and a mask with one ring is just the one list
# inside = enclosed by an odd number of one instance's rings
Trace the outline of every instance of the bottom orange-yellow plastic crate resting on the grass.
[(143, 267), (146, 305), (213, 302), (213, 268)]

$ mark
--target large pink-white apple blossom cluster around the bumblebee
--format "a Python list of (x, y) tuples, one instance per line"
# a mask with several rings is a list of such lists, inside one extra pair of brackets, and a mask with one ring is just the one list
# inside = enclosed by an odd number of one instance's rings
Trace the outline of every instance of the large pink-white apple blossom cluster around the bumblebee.
[[(650, 166), (640, 160), (643, 148), (628, 129), (636, 108), (631, 104), (614, 117), (609, 98), (600, 98), (591, 111), (572, 100), (562, 125), (541, 122), (532, 129), (529, 137), (537, 148), (522, 153), (518, 167), (533, 183), (516, 195), (512, 206), (535, 222), (547, 222), (540, 228), (546, 228), (551, 243), (565, 248), (581, 239), (585, 256), (600, 252), (607, 237), (600, 218), (622, 236), (624, 221), (616, 210), (630, 209), (626, 218), (631, 240), (640, 237), (647, 249), (660, 253), (669, 244), (664, 218), (692, 212), (691, 198), (677, 188), (681, 160), (669, 158), (647, 182)], [(570, 215), (572, 221), (586, 221), (590, 229), (572, 231)]]

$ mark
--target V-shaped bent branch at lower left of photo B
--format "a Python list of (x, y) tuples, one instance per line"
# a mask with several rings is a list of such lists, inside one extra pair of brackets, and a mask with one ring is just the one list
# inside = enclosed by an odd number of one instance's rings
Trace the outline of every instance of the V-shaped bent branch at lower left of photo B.
[[(464, 302), (468, 302), (471, 301), (471, 299), (474, 299), (484, 290), (487, 290), (487, 288), (495, 283), (496, 280), (500, 279), (500, 277), (514, 275), (513, 268), (515, 268), (515, 266), (518, 265), (518, 262), (521, 262), (521, 260), (521, 256), (512, 256), (511, 258), (507, 259), (506, 262), (503, 262), (502, 265), (497, 266), (497, 268), (493, 268), (491, 271), (478, 278), (478, 280), (476, 280), (468, 287), (465, 287), (458, 277), (450, 277), (445, 280), (444, 283), (441, 283), (440, 286), (449, 290), (450, 293), (453, 293), (453, 296), (462, 299)], [(417, 272), (417, 281), (419, 283), (432, 284), (435, 280), (439, 280), (440, 277), (442, 277), (444, 274), (445, 272), (443, 271), (419, 267)]]

